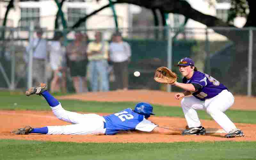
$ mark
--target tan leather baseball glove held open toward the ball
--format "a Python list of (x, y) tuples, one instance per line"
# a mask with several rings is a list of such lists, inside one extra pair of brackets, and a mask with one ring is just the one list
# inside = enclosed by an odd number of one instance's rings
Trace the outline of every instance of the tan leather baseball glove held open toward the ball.
[(159, 67), (156, 69), (154, 80), (163, 84), (173, 84), (177, 81), (177, 75), (166, 67)]

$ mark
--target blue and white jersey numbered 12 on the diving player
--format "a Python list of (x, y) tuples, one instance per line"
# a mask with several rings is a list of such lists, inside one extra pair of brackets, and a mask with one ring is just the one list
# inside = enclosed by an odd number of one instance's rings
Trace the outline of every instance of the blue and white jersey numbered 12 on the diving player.
[(145, 119), (143, 115), (134, 112), (131, 108), (126, 108), (119, 113), (103, 116), (106, 120), (107, 135), (113, 135), (120, 130), (140, 130), (151, 132), (158, 125)]

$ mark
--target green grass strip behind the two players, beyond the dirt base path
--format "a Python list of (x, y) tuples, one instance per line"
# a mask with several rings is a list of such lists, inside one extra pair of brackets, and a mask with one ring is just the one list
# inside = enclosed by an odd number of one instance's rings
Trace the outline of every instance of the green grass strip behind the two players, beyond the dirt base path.
[[(51, 110), (43, 96), (9, 95), (1, 93), (0, 110)], [(61, 105), (69, 111), (114, 113), (125, 108), (134, 108), (134, 102), (95, 102), (80, 100), (60, 100)], [(17, 103), (14, 105), (14, 103)], [(153, 105), (156, 116), (184, 117), (180, 107)], [(256, 124), (256, 111), (228, 110), (227, 116), (236, 123)], [(212, 120), (205, 111), (198, 110), (200, 119)]]

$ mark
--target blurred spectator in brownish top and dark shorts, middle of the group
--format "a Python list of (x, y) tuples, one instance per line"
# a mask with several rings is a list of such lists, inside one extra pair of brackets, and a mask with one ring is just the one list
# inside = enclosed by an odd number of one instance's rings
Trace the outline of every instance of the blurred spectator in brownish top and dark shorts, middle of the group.
[(81, 32), (75, 33), (75, 40), (68, 44), (68, 67), (76, 92), (87, 92), (87, 39)]

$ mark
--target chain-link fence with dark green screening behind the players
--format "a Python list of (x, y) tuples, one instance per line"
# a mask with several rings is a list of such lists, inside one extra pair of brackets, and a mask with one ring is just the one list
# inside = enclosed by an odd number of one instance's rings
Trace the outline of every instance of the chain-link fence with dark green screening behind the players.
[[(89, 41), (94, 40), (96, 30), (80, 28), (87, 34)], [(99, 31), (99, 29), (97, 29)], [(100, 29), (103, 39), (111, 42), (116, 28)], [(181, 58), (191, 57), (196, 67), (221, 83), (235, 94), (256, 95), (254, 79), (255, 28), (119, 28), (124, 41), (131, 45), (132, 57), (129, 64), (129, 89), (168, 90), (153, 80), (157, 67), (167, 66), (179, 73), (174, 67)], [(51, 41), (56, 31), (44, 29), (43, 38)], [(67, 34), (62, 44), (68, 45), (74, 39), (73, 30), (61, 30)], [(29, 44), (30, 30), (1, 28), (0, 87), (6, 89), (28, 88), (28, 63), (24, 60), (26, 46)], [(33, 34), (36, 37), (35, 34)], [(4, 38), (3, 38), (4, 37)], [(45, 77), (52, 79), (49, 59), (45, 63)], [(81, 68), (86, 72), (87, 68)], [(140, 71), (141, 76), (133, 76)], [(114, 72), (109, 72), (110, 90), (115, 90)], [(179, 74), (179, 81), (182, 76)], [(50, 85), (49, 85), (50, 86)], [(89, 86), (89, 85), (88, 85)], [(72, 78), (67, 72), (68, 92), (74, 92)], [(90, 91), (90, 88), (89, 88)], [(172, 87), (171, 91), (181, 91)]]

